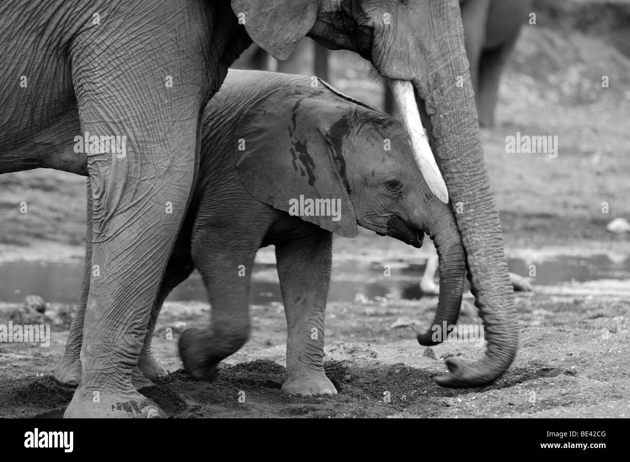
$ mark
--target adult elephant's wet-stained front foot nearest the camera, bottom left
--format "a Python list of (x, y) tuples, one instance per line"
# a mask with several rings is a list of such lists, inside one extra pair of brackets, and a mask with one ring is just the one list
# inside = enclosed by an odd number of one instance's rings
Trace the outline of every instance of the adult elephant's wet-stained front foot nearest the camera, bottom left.
[(77, 388), (64, 419), (161, 419), (166, 413), (135, 390), (124, 393)]

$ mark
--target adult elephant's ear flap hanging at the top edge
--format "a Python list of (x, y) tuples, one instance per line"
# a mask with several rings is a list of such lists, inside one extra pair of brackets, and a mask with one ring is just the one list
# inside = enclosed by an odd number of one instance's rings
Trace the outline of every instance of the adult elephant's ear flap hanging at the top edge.
[(284, 61), (306, 37), (317, 19), (313, 0), (232, 0), (232, 10), (244, 21), (256, 45)]

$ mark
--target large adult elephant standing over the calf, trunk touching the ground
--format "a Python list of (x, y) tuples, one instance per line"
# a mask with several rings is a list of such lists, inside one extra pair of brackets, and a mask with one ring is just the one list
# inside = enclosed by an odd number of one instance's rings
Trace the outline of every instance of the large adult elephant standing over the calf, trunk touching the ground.
[(200, 113), (251, 39), (277, 59), (308, 35), (371, 61), (399, 90), (421, 171), (445, 199), (420, 109), (450, 201), (464, 204), (457, 225), (488, 338), (484, 359), (449, 359), (439, 381), (486, 384), (510, 365), (518, 335), (500, 222), (473, 88), (456, 86), (468, 75), (457, 0), (12, 0), (0, 18), (0, 173), (88, 171), (93, 188), (81, 385), (66, 417), (163, 415), (132, 371), (195, 185)]

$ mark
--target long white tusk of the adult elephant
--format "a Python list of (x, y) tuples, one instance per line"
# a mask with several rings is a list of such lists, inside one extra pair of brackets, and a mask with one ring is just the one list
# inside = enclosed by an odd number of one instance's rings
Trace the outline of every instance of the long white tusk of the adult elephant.
[(449, 202), (449, 192), (440, 169), (435, 163), (431, 147), (420, 120), (420, 112), (413, 94), (413, 86), (407, 80), (390, 80), (394, 99), (403, 120), (404, 128), (411, 141), (411, 151), (425, 177), (428, 187), (444, 204)]

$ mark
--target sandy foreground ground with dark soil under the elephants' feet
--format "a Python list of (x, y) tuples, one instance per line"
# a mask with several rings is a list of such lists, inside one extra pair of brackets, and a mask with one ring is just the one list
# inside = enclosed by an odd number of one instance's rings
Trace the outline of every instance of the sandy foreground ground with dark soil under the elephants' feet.
[[(445, 356), (476, 361), (482, 348), (459, 342), (427, 349), (415, 340), (415, 325), (428, 325), (437, 299), (329, 304), (326, 374), (340, 392), (333, 398), (280, 393), (287, 337), (280, 304), (253, 306), (248, 344), (226, 361), (217, 380), (192, 381), (180, 369), (178, 335), (166, 340), (164, 332), (205, 322), (209, 306), (169, 303), (154, 351), (171, 374), (142, 393), (175, 418), (630, 417), (630, 303), (538, 297), (517, 299), (521, 339), (513, 366), (491, 386), (470, 390), (442, 388), (433, 377), (445, 372)], [(478, 322), (470, 315), (460, 320)], [(55, 383), (51, 370), (66, 335), (54, 332), (48, 348), (0, 346), (0, 415), (62, 415), (74, 390)]]

